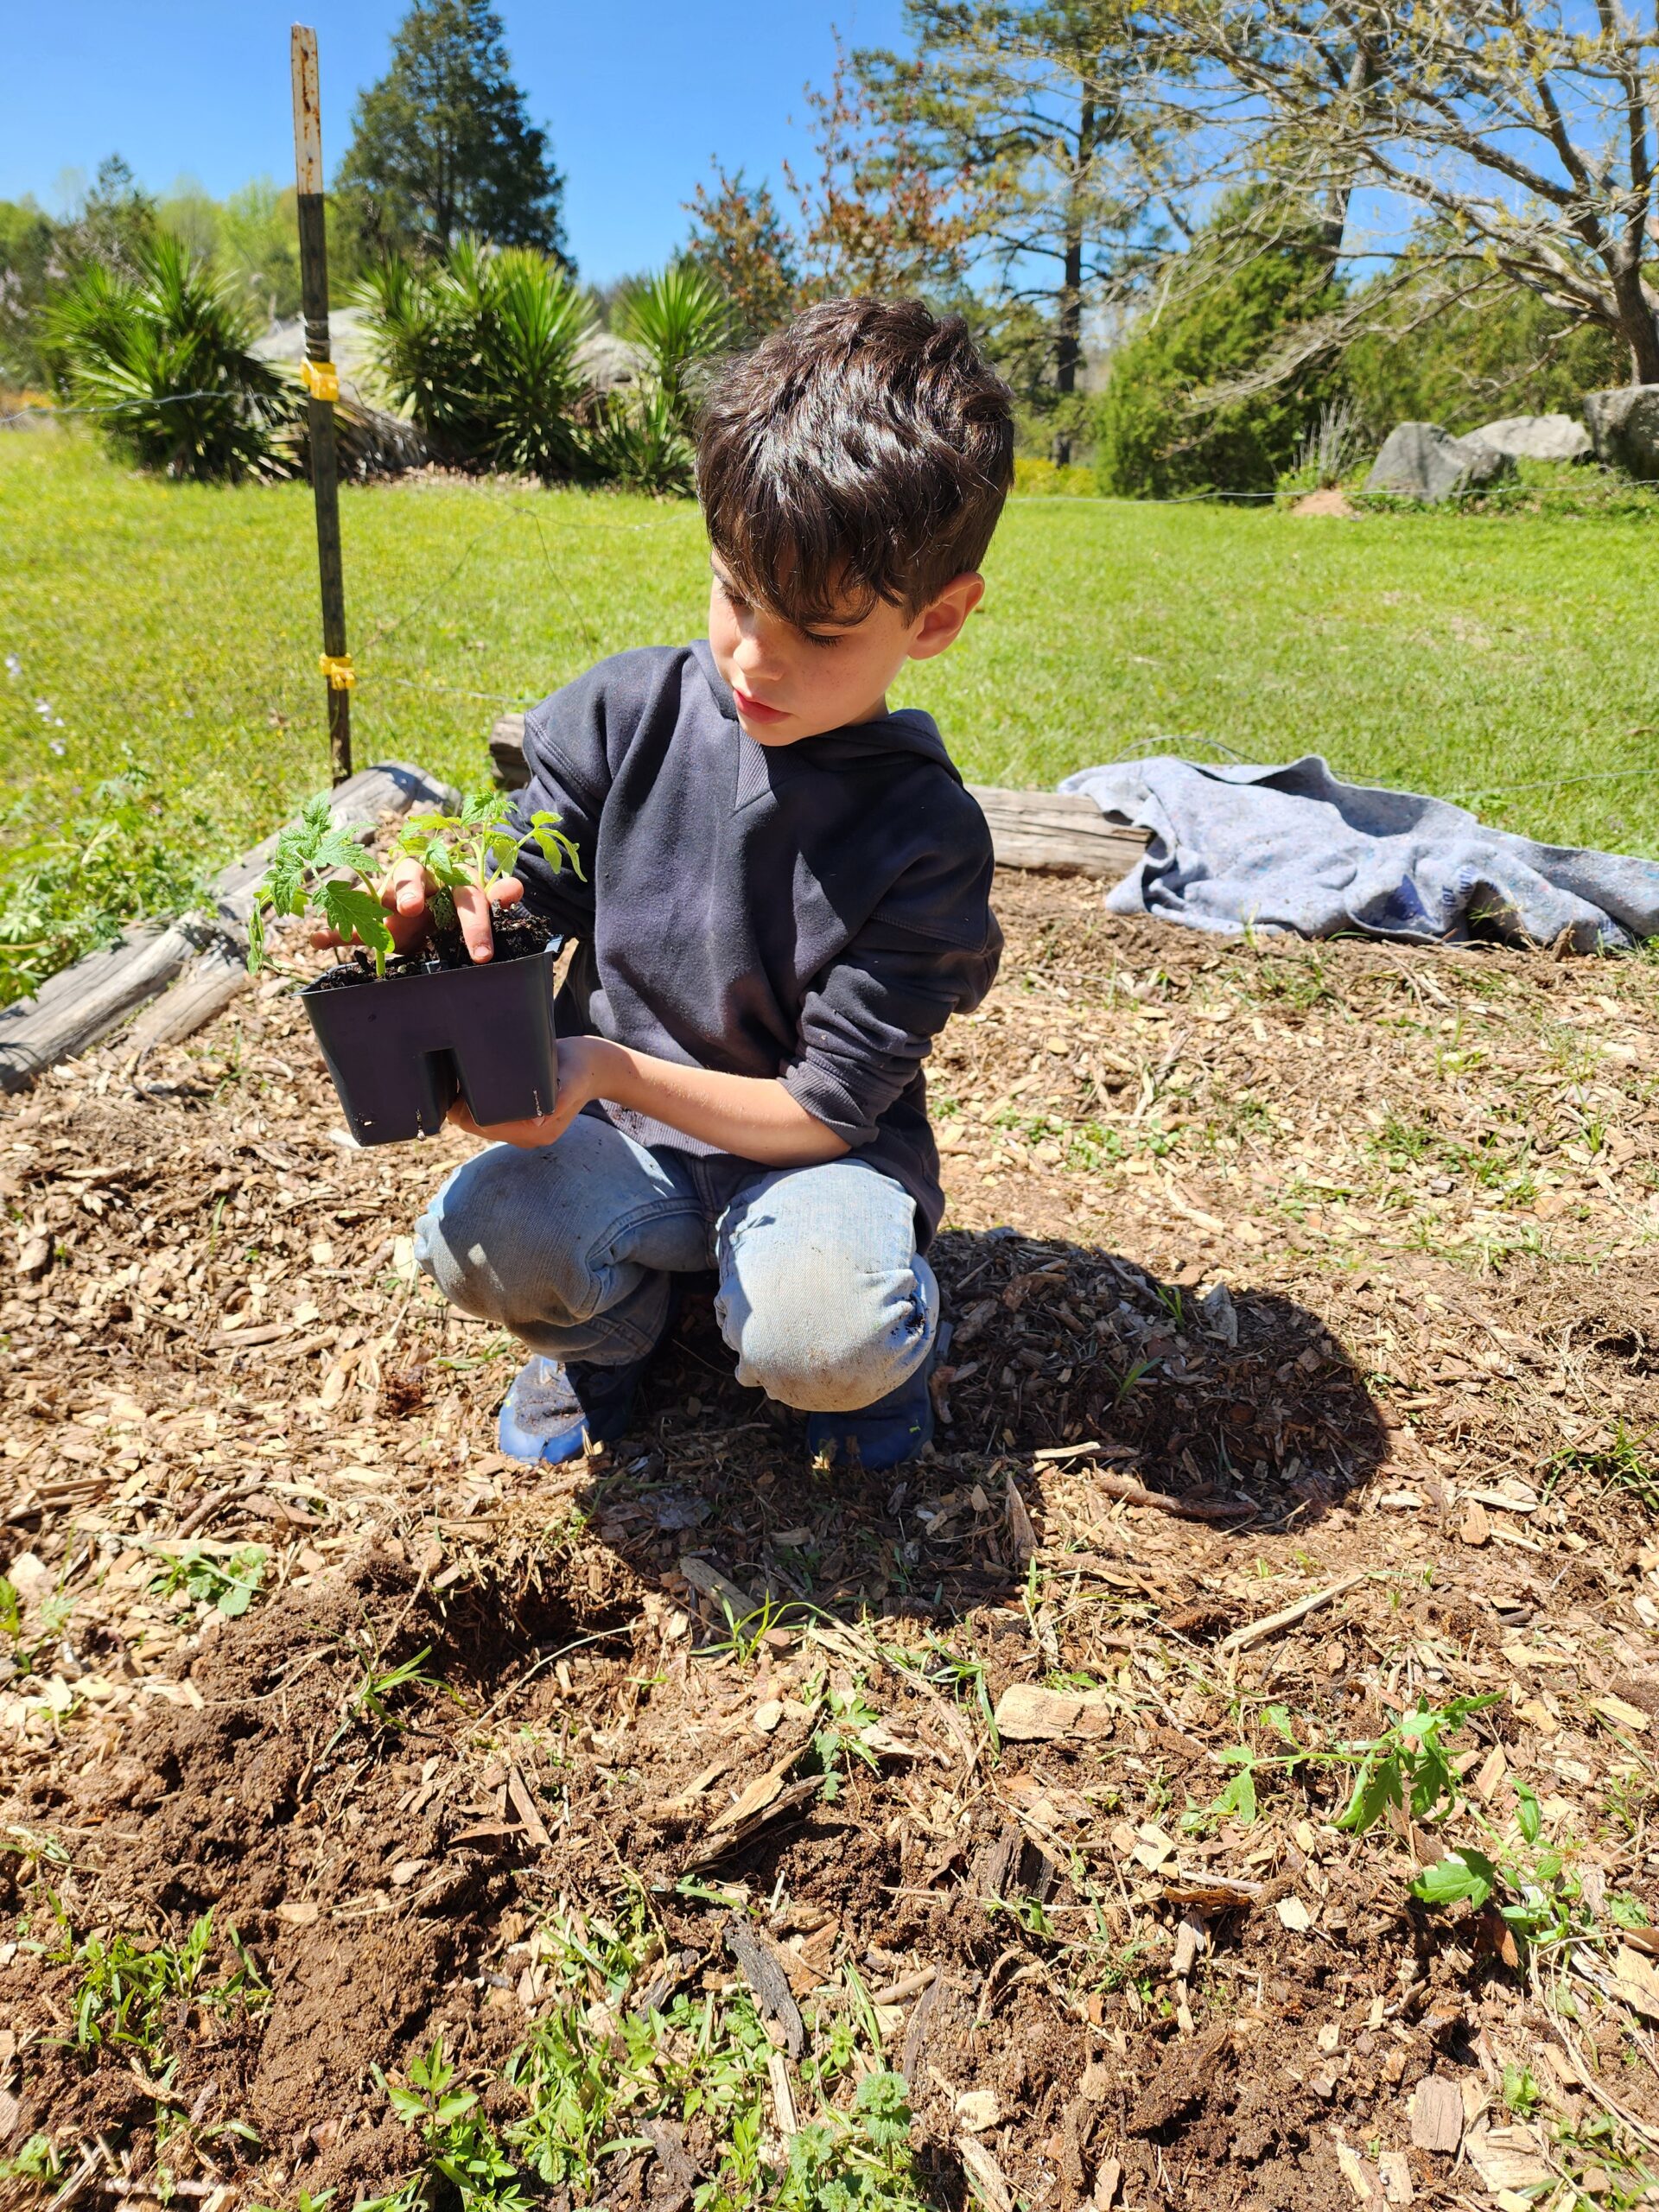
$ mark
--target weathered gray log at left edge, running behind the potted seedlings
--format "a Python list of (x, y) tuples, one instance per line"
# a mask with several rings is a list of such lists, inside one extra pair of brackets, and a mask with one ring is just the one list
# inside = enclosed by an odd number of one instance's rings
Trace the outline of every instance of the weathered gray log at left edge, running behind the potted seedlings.
[[(407, 761), (383, 761), (330, 792), (330, 814), (343, 830), (372, 832), (385, 814), (414, 807), (453, 807), (456, 792)], [(51, 975), (35, 998), (0, 1009), (0, 1091), (20, 1091), (44, 1068), (73, 1060), (100, 1037), (119, 1029), (139, 1006), (159, 998), (186, 969), (192, 984), (206, 975), (195, 962), (221, 949), (215, 969), (223, 973), (246, 945), (254, 891), (265, 874), (274, 836), (221, 869), (212, 887), (212, 911), (186, 914), (166, 927), (128, 929), (115, 945), (75, 960)], [(201, 1013), (206, 1022), (219, 1004)], [(199, 1024), (192, 1024), (199, 1026)], [(188, 1035), (188, 1029), (181, 1031)], [(150, 1037), (150, 1042), (159, 1042)]]

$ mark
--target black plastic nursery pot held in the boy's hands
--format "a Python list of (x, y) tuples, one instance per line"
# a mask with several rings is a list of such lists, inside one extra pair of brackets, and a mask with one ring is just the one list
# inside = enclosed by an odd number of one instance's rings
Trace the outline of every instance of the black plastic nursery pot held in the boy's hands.
[(458, 1097), (480, 1126), (551, 1113), (560, 945), (482, 967), (305, 984), (299, 993), (358, 1144), (436, 1135)]

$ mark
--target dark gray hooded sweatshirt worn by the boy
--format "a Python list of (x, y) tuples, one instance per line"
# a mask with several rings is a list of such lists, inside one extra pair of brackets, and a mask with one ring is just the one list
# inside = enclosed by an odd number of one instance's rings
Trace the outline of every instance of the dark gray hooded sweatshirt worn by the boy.
[(560, 814), (588, 878), (555, 876), (533, 845), (520, 858), (529, 909), (577, 938), (560, 1033), (781, 1077), (909, 1190), (927, 1241), (945, 1199), (922, 1060), (1002, 953), (991, 832), (933, 719), (907, 708), (757, 745), (699, 639), (619, 653), (553, 692), (524, 717), (524, 757), (520, 823)]

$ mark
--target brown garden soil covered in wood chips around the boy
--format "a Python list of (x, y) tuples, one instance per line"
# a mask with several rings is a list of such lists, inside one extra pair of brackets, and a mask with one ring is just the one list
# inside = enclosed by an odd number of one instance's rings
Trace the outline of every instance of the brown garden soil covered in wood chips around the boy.
[[(987, 2154), (1042, 2212), (1113, 2172), (1148, 2212), (1639, 2199), (1659, 2081), (1601, 1902), (1659, 1918), (1659, 969), (1217, 945), (1035, 878), (1000, 909), (998, 993), (936, 1060), (953, 1343), (902, 1480), (812, 1475), (706, 1301), (637, 1438), (502, 1462), (513, 1347), (445, 1314), (405, 1241), (469, 1146), (341, 1146), (292, 998), (7, 1108), (0, 2157), (44, 2130), (60, 2174), (0, 2188), (385, 2190), (414, 2150), (369, 2068), (442, 2033), (507, 2126), (502, 2066), (549, 2002), (524, 1940), (633, 1880), (717, 1993), (745, 1900), (814, 2037), (852, 2017), (849, 1964), (900, 1991), (933, 1969), (880, 2015), (929, 2203), (984, 2194)], [(261, 1544), (261, 1595), (241, 1619), (161, 1595), (164, 1544)], [(818, 1610), (721, 1648), (708, 1568)], [(354, 1710), (365, 1668), (422, 1652), (400, 1725)], [(942, 1657), (991, 1705), (1104, 1694), (1084, 1732), (998, 1747)], [(787, 1701), (825, 1674), (898, 1750), (708, 1858), (714, 1816), (805, 1752)], [(1263, 1770), (1254, 1823), (1203, 1816), (1219, 1752), (1283, 1752), (1270, 1705), (1329, 1750), (1418, 1692), (1495, 1692), (1453, 1739), (1447, 1836), (1533, 1787), (1595, 1907), (1571, 1944), (1418, 1902), (1442, 1834), (1338, 1832), (1347, 1770)], [(270, 2004), (175, 2006), (166, 2081), (75, 2048), (49, 1896), (75, 1942), (212, 1909), (215, 1973), (234, 1924)], [(1506, 2066), (1535, 2101), (1504, 2106)], [(1431, 2075), (1455, 2159), (1411, 2143)], [(608, 2201), (666, 2212), (714, 2163), (668, 2128)]]

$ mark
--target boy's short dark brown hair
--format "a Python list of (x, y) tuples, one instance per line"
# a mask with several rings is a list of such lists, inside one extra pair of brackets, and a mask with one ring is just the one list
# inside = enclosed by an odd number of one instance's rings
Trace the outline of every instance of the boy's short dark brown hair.
[(1013, 394), (960, 314), (827, 299), (717, 376), (697, 498), (732, 584), (794, 624), (916, 617), (978, 568), (1013, 482)]

